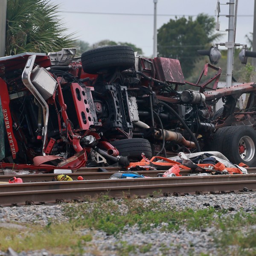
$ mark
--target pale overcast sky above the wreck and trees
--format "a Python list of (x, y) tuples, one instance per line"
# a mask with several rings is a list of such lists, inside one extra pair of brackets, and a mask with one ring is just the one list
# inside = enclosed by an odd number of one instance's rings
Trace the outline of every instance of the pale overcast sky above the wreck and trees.
[[(61, 22), (69, 33), (90, 45), (102, 40), (128, 42), (142, 48), (144, 56), (153, 54), (154, 3), (153, 0), (51, 0), (60, 6)], [(229, 6), (220, 0), (220, 32), (228, 38)], [(175, 16), (195, 18), (200, 13), (215, 17), (217, 0), (158, 0), (157, 29)], [(253, 32), (254, 0), (238, 1), (236, 43), (247, 44), (245, 35)], [(216, 31), (217, 32), (217, 31)], [(220, 47), (220, 49), (225, 49)]]

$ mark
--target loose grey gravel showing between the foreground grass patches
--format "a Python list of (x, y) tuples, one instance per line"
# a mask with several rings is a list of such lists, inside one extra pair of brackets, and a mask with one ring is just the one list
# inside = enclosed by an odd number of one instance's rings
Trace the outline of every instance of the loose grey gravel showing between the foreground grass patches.
[[(186, 208), (205, 209), (207, 205), (218, 207), (219, 209), (229, 209), (226, 215), (233, 215), (239, 210), (251, 212), (256, 207), (256, 193), (232, 193), (221, 195), (186, 195), (179, 197), (165, 198), (146, 198), (144, 204), (151, 204), (152, 201), (160, 202), (161, 209), (166, 207), (175, 208), (176, 211), (182, 211)], [(120, 204), (119, 208), (125, 213), (125, 205)], [(21, 207), (0, 207), (0, 227), (4, 225), (20, 224), (22, 229), (25, 224), (47, 225), (49, 220), (68, 221), (64, 216), (62, 209), (66, 204), (60, 205), (40, 205), (40, 206), (21, 206)], [(1, 225), (2, 224), (2, 225)], [(218, 232), (213, 227), (207, 227), (204, 230), (186, 230), (186, 227), (180, 226), (177, 232), (162, 232), (161, 227), (168, 225), (162, 223), (158, 227), (152, 227), (150, 232), (142, 233), (137, 225), (125, 227), (125, 231), (117, 236), (109, 236), (101, 230), (81, 229), (82, 235), (91, 234), (93, 239), (84, 247), (84, 256), (92, 255), (120, 255), (120, 248), (125, 242), (126, 245), (143, 247), (150, 244), (147, 252), (136, 251), (130, 255), (218, 255), (217, 248), (213, 241), (212, 233)], [(10, 226), (11, 228), (11, 226)], [(16, 227), (17, 229), (19, 227)], [(256, 229), (256, 227), (252, 227)], [(0, 252), (0, 255), (7, 256), (6, 252)], [(31, 251), (17, 253), (19, 256), (57, 256), (47, 251)]]

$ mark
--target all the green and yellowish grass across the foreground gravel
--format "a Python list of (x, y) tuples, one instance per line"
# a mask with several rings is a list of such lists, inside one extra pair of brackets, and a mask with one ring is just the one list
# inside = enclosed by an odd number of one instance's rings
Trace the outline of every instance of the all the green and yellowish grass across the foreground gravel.
[[(256, 255), (255, 212), (227, 214), (227, 210), (213, 207), (198, 211), (177, 211), (166, 203), (163, 208), (162, 203), (161, 200), (144, 204), (140, 199), (115, 201), (104, 197), (94, 202), (67, 204), (64, 205), (64, 215), (69, 217), (69, 221), (52, 221), (44, 227), (30, 225), (25, 230), (0, 228), (0, 248), (6, 251), (12, 247), (17, 252), (46, 249), (51, 253), (82, 255), (84, 247), (90, 246), (93, 235), (82, 234), (80, 230), (102, 230), (118, 238), (119, 233), (126, 232), (127, 227), (136, 224), (141, 232), (150, 232), (154, 227), (161, 227), (165, 232), (177, 231), (180, 227), (186, 227), (187, 230), (215, 227), (218, 232), (212, 235), (220, 255)], [(152, 248), (150, 243), (136, 245), (126, 241), (118, 241), (114, 246), (118, 255), (148, 253)], [(92, 246), (91, 249), (100, 255), (97, 248), (93, 249)], [(161, 244), (160, 251), (163, 254), (169, 254), (169, 250), (169, 244)]]

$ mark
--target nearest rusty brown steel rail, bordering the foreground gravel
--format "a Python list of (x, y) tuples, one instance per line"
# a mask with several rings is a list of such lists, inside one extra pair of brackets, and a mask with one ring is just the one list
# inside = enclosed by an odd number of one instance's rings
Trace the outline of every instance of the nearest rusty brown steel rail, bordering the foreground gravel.
[(46, 204), (71, 201), (86, 201), (96, 199), (106, 194), (111, 198), (124, 198), (130, 196), (147, 197), (163, 195), (202, 194), (209, 192), (239, 191), (246, 186), (248, 189), (255, 188), (255, 180), (246, 181), (222, 181), (201, 183), (175, 183), (161, 185), (140, 186), (115, 186), (115, 187), (93, 187), (76, 189), (52, 189), (37, 191), (16, 191), (0, 193), (1, 206), (24, 205), (24, 204)]

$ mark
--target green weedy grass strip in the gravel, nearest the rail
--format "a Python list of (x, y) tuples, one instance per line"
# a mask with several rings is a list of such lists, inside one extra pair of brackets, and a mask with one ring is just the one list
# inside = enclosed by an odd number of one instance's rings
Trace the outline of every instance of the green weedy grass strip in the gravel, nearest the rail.
[[(210, 225), (216, 215), (212, 207), (194, 212), (186, 209), (177, 212), (175, 209), (163, 210), (161, 202), (152, 200), (152, 204), (144, 204), (140, 199), (125, 199), (116, 201), (96, 201), (93, 204), (73, 204), (65, 209), (70, 223), (76, 227), (95, 228), (103, 230), (109, 235), (116, 235), (124, 230), (125, 226), (137, 224), (142, 232), (148, 232), (162, 223), (168, 225), (163, 231), (178, 230), (185, 224), (189, 230), (202, 229)], [(125, 214), (122, 209), (126, 209)], [(218, 213), (221, 214), (221, 213)]]

